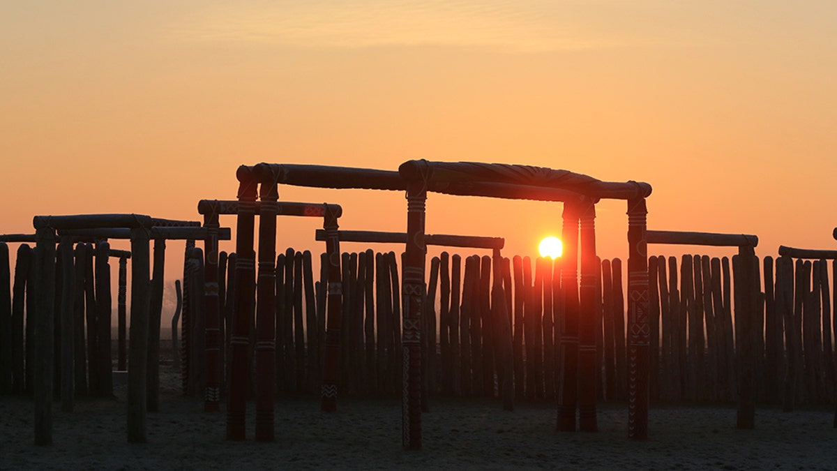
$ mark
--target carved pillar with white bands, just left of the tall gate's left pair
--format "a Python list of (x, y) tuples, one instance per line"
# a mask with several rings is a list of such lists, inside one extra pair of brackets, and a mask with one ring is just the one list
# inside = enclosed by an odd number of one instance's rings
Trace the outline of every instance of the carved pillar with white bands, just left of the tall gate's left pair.
[(203, 411), (220, 411), (221, 401), (221, 320), (218, 303), (218, 212), (203, 216), (207, 238), (203, 244), (204, 282), (203, 300), (206, 315), (206, 393)]

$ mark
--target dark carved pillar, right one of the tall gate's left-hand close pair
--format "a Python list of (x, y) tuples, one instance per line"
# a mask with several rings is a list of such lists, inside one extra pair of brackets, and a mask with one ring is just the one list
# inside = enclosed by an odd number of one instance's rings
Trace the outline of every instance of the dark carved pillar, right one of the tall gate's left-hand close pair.
[[(276, 184), (259, 191), (259, 282), (256, 298), (256, 432), (257, 442), (274, 440), (276, 318)], [(311, 329), (311, 327), (309, 327)]]

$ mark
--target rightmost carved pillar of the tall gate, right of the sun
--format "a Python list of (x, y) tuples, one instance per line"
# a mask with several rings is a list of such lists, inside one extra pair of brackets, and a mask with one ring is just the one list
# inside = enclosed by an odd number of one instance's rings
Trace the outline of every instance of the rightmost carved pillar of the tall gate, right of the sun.
[(644, 198), (628, 200), (628, 436), (648, 438), (649, 281)]

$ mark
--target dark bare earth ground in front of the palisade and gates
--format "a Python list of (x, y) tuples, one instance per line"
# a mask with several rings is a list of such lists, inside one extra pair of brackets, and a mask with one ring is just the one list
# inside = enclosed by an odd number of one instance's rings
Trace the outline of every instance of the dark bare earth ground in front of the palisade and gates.
[[(735, 410), (654, 408), (650, 439), (627, 437), (624, 406), (600, 406), (599, 432), (555, 432), (555, 409), (496, 401), (434, 401), (423, 415), (424, 450), (401, 448), (400, 401), (344, 399), (336, 414), (313, 398), (276, 402), (275, 443), (224, 440), (225, 414), (177, 393), (164, 366), (161, 411), (148, 415), (148, 443), (126, 443), (125, 386), (114, 400), (53, 409), (54, 444), (33, 445), (33, 405), (0, 398), (0, 469), (837, 469), (833, 411), (758, 410), (755, 430)], [(223, 408), (223, 406), (222, 406)]]

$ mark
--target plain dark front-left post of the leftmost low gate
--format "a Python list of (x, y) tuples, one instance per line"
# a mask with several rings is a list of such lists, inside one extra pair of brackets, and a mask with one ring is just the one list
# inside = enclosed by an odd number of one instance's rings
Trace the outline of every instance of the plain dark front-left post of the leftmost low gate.
[(55, 298), (55, 230), (36, 231), (35, 249), (35, 351), (33, 392), (35, 445), (52, 444), (53, 338)]

